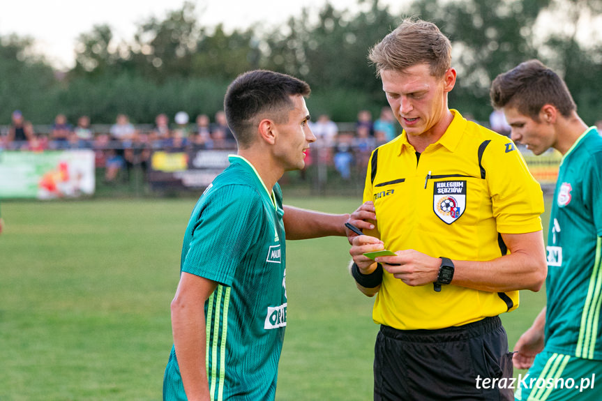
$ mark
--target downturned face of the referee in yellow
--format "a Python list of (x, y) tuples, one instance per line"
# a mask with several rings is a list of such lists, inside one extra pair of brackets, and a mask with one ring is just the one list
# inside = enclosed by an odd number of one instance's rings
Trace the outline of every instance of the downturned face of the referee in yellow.
[(449, 68), (438, 78), (430, 74), (428, 64), (418, 64), (402, 71), (383, 70), (380, 75), (386, 100), (407, 135), (428, 137), (445, 131), (438, 128), (444, 125), (447, 93), (456, 83), (456, 70)]

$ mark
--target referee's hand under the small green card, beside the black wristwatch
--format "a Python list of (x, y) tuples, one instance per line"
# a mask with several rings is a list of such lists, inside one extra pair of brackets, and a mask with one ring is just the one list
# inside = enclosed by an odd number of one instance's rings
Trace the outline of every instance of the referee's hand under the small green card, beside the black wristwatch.
[(395, 252), (397, 256), (381, 256), (376, 261), (382, 268), (412, 287), (427, 285), (437, 280), (441, 258), (430, 257), (417, 250)]

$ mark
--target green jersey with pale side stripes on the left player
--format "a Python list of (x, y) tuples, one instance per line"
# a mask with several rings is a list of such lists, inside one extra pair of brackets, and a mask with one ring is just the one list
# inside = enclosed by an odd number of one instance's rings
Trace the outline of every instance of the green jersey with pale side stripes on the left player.
[[(218, 282), (204, 305), (211, 400), (273, 400), (287, 312), (282, 191), (229, 161), (190, 216), (181, 271)], [(186, 400), (173, 348), (163, 399)]]

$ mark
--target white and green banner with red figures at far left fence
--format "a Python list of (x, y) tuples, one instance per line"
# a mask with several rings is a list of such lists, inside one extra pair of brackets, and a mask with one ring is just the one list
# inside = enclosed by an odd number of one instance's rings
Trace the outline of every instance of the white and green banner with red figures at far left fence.
[(0, 198), (56, 199), (93, 195), (94, 152), (0, 151)]

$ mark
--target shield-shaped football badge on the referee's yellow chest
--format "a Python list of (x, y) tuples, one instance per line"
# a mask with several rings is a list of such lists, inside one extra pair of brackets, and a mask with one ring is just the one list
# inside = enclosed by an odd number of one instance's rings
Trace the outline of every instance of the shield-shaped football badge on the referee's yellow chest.
[(437, 181), (433, 186), (432, 210), (451, 224), (466, 210), (466, 181)]

